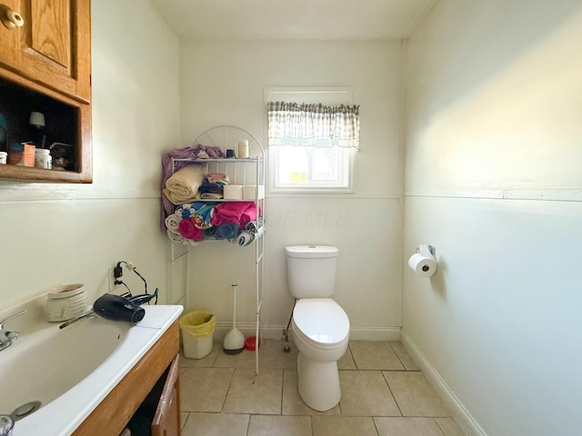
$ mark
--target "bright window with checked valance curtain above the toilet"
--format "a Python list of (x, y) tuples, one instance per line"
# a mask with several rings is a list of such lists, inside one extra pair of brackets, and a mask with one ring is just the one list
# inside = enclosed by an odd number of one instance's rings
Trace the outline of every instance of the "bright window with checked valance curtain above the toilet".
[(352, 192), (359, 115), (347, 105), (351, 88), (271, 88), (265, 97), (271, 192)]

